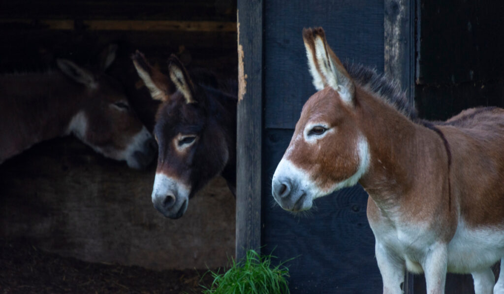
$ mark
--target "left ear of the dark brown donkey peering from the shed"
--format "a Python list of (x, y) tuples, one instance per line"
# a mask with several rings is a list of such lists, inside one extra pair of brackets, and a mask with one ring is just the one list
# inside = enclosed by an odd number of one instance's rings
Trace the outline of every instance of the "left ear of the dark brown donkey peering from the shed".
[(137, 73), (149, 89), (151, 97), (156, 100), (166, 101), (170, 94), (175, 92), (175, 85), (159, 70), (151, 67), (142, 52), (137, 50), (131, 57)]

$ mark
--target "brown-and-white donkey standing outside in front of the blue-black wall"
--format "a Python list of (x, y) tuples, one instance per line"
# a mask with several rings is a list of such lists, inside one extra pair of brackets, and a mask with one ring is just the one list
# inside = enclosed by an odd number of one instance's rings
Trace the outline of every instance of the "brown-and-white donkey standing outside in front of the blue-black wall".
[(424, 272), (428, 293), (444, 293), (447, 272), (471, 273), (476, 293), (504, 293), (504, 109), (419, 120), (397, 83), (343, 65), (322, 28), (303, 40), (318, 92), (273, 175), (276, 202), (301, 211), (359, 183), (384, 293), (402, 293), (405, 270)]

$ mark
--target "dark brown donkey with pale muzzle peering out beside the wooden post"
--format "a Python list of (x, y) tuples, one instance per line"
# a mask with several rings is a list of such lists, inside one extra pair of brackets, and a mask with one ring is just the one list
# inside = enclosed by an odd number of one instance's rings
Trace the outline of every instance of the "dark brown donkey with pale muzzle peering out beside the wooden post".
[(189, 199), (218, 174), (234, 194), (236, 89), (209, 75), (206, 81), (193, 80), (173, 54), (168, 76), (150, 66), (140, 51), (132, 58), (152, 98), (162, 101), (154, 127), (159, 145), (154, 207), (166, 217), (180, 218)]

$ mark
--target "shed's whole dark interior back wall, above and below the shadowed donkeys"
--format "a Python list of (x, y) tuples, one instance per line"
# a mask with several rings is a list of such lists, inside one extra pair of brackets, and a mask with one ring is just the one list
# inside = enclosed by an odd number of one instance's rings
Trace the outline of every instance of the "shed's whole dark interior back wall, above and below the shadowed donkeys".
[[(236, 3), (231, 0), (0, 2), (0, 72), (45, 71), (55, 58), (94, 64), (117, 43), (108, 73), (149, 129), (157, 102), (130, 55), (161, 70), (176, 53), (188, 67), (236, 77)], [(0, 97), (1, 99), (1, 97)], [(0, 122), (2, 123), (2, 122)], [(179, 220), (152, 206), (155, 166), (129, 169), (69, 137), (38, 144), (0, 165), (0, 238), (94, 262), (148, 268), (215, 268), (234, 253), (235, 200), (217, 179)]]

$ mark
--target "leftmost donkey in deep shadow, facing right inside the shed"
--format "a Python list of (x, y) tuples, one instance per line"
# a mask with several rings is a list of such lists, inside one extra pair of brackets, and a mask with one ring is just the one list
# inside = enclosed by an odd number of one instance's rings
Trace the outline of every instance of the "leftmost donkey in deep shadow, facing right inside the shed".
[(104, 74), (114, 58), (111, 46), (97, 73), (58, 59), (60, 71), (0, 76), (0, 163), (38, 142), (74, 134), (105, 157), (146, 167), (156, 143), (119, 83)]

